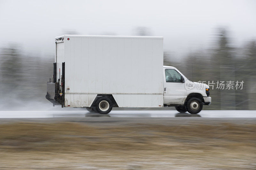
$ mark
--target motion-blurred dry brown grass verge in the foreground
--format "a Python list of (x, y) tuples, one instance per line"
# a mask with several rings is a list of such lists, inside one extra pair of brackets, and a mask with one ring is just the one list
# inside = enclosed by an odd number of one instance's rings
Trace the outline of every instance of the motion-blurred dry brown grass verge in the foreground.
[(256, 124), (17, 122), (0, 129), (3, 169), (256, 169)]

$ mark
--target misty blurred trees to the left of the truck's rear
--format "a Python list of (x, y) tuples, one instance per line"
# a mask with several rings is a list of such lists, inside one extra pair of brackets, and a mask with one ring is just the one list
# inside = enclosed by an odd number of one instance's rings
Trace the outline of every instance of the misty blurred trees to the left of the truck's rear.
[(22, 106), (27, 105), (29, 101), (46, 102), (46, 82), (52, 74), (53, 62), (53, 56), (24, 55), (24, 50), (17, 43), (10, 43), (2, 48), (0, 51), (1, 105)]

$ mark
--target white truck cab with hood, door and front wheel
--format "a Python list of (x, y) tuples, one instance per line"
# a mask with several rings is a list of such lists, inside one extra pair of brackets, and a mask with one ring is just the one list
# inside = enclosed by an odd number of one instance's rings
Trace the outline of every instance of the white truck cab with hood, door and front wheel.
[(163, 82), (164, 106), (174, 106), (181, 113), (197, 114), (203, 105), (211, 104), (209, 86), (190, 81), (175, 67), (163, 67)]

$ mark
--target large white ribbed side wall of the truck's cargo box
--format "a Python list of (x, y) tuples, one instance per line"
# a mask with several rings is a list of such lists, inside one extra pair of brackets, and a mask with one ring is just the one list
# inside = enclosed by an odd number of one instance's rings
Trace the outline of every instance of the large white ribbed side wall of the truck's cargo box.
[[(73, 37), (65, 41), (65, 106), (88, 107), (97, 93), (119, 107), (163, 105), (163, 40)], [(58, 55), (57, 55), (58, 57)]]

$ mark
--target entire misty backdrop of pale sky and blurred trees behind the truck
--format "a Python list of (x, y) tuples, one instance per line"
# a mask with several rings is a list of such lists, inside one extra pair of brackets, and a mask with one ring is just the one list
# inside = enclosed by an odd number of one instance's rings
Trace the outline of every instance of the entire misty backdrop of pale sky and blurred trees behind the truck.
[[(0, 109), (35, 107), (52, 76), (54, 37), (164, 37), (164, 65), (215, 83), (204, 109), (255, 110), (256, 1), (0, 0)], [(244, 82), (217, 88), (217, 81)], [(236, 84), (236, 83), (235, 83)]]

